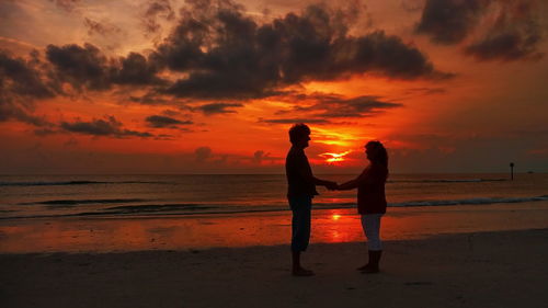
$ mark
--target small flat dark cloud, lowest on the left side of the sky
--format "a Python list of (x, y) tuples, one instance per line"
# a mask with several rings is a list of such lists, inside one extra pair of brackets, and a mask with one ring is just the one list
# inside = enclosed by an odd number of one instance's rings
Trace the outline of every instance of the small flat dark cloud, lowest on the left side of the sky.
[(147, 132), (136, 132), (124, 129), (123, 124), (114, 116), (106, 116), (105, 118), (95, 118), (91, 122), (77, 121), (73, 123), (61, 122), (60, 128), (70, 133), (78, 133), (92, 136), (112, 136), (116, 138), (124, 137), (153, 137)]

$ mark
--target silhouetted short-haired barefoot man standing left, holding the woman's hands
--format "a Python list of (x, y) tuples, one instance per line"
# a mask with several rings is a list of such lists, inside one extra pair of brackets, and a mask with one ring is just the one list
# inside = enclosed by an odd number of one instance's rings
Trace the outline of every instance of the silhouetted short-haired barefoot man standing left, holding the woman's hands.
[(285, 161), (287, 175), (287, 199), (293, 212), (292, 220), (292, 256), (293, 275), (311, 276), (312, 271), (300, 266), (300, 252), (305, 251), (310, 240), (310, 215), (312, 198), (318, 194), (316, 185), (323, 185), (330, 190), (336, 187), (335, 182), (317, 179), (305, 155), (305, 148), (310, 140), (310, 128), (305, 124), (295, 124), (289, 129), (292, 148)]

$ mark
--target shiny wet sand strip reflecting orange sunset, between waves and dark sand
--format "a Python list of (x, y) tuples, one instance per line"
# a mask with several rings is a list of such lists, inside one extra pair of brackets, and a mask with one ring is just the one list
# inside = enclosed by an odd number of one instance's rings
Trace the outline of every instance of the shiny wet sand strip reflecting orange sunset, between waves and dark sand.
[[(389, 208), (385, 241), (548, 228), (548, 202)], [(290, 212), (0, 220), (1, 253), (125, 252), (287, 244)], [(363, 242), (354, 208), (313, 209), (311, 244)]]

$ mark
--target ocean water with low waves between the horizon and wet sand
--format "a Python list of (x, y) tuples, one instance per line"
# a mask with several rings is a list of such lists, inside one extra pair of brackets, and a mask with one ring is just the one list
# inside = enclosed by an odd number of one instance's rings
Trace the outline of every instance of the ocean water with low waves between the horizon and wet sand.
[[(339, 183), (352, 174), (317, 175)], [(288, 210), (285, 175), (0, 175), (0, 219), (214, 215)], [(315, 208), (355, 207), (355, 191), (318, 189)], [(389, 207), (548, 201), (548, 174), (391, 174)]]

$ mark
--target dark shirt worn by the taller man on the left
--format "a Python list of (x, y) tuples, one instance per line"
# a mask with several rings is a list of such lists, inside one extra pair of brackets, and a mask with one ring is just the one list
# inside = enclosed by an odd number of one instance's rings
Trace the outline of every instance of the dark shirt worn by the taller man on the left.
[(285, 174), (287, 176), (287, 197), (318, 194), (313, 183), (312, 169), (304, 149), (292, 147), (285, 159)]

